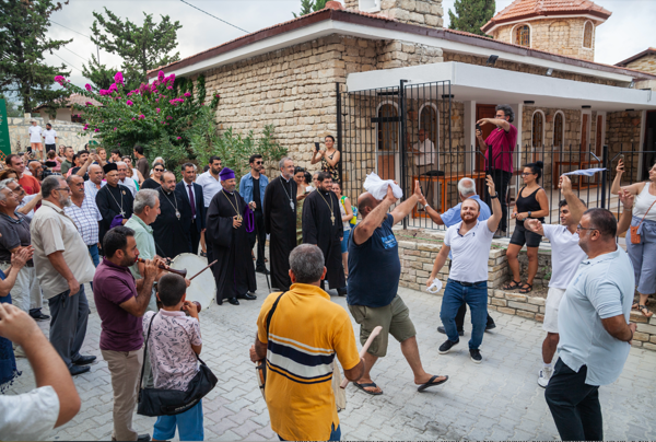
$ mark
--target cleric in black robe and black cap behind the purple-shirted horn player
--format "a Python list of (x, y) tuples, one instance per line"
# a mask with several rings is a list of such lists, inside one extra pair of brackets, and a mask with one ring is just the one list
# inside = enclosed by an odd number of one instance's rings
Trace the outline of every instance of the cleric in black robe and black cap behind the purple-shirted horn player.
[[(96, 206), (103, 217), (103, 220), (98, 222), (98, 243), (103, 244), (105, 233), (112, 229), (112, 226), (122, 225), (132, 216), (132, 206), (134, 205), (134, 197), (129, 188), (118, 184), (118, 167), (115, 163), (105, 164), (103, 167), (105, 172), (105, 179), (107, 184), (98, 190), (96, 194)], [(117, 216), (122, 216), (122, 221), (116, 219)], [(115, 225), (112, 225), (114, 222)]]

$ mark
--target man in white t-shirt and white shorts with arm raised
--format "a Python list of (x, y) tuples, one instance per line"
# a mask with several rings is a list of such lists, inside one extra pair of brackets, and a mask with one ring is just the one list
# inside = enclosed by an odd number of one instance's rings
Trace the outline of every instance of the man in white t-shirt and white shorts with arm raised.
[(553, 374), (553, 356), (558, 347), (558, 309), (567, 286), (576, 275), (578, 265), (587, 256), (578, 246), (576, 226), (587, 209), (585, 203), (572, 191), (572, 182), (565, 175), (560, 178), (560, 188), (565, 199), (558, 205), (561, 225), (542, 224), (537, 219), (528, 219), (526, 229), (547, 236), (551, 243), (551, 279), (547, 293), (544, 322), (542, 328), (547, 337), (542, 342), (542, 362), (544, 367), (538, 373), (538, 385), (546, 388)]

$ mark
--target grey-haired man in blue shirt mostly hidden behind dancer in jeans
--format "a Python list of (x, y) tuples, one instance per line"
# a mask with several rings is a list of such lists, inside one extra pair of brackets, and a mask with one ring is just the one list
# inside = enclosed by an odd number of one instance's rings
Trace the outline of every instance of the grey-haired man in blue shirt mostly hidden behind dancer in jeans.
[[(429, 217), (431, 217), (435, 224), (445, 225), (447, 229), (462, 221), (462, 218), (460, 218), (460, 209), (462, 207), (461, 201), (465, 201), (468, 198), (476, 199), (479, 203), (479, 221), (485, 221), (487, 219), (492, 217), (492, 210), (490, 210), (490, 206), (482, 201), (481, 198), (476, 194), (476, 182), (473, 179), (466, 177), (458, 182), (458, 196), (460, 197), (460, 202), (442, 214), (440, 214), (437, 210), (430, 207), (425, 198), (420, 199), (419, 202), (421, 202), (421, 205), (426, 209), (426, 213), (429, 214)], [(462, 305), (460, 305), (460, 309), (458, 309), (458, 314), (456, 315), (456, 327), (458, 328), (458, 335), (460, 336), (465, 336), (466, 313), (467, 303), (462, 303)], [(485, 330), (491, 330), (495, 327), (496, 324), (494, 324), (494, 319), (492, 319), (492, 316), (490, 316), (490, 314), (488, 313), (488, 324), (485, 325)], [(443, 325), (437, 327), (437, 332), (446, 335), (446, 330), (444, 329)]]

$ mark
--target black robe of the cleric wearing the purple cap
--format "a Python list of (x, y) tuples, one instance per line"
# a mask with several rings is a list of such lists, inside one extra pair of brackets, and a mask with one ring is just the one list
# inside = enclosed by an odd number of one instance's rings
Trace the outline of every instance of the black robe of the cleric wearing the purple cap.
[[(237, 214), (244, 219), (242, 225), (235, 229), (233, 219)], [(218, 303), (257, 290), (248, 247), (248, 233), (253, 229), (253, 212), (239, 193), (220, 190), (214, 195), (208, 208), (206, 244), (208, 256), (218, 261), (212, 266)]]

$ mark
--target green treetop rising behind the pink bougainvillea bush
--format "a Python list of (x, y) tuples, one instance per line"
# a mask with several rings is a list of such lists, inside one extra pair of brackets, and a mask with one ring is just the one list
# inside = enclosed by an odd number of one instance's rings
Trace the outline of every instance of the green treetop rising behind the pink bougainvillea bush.
[[(101, 48), (122, 58), (122, 72), (128, 84), (132, 79), (148, 82), (147, 72), (160, 66), (168, 65), (180, 59), (180, 54), (171, 51), (177, 46), (177, 30), (183, 27), (180, 22), (171, 22), (168, 15), (160, 15), (162, 21), (155, 23), (153, 14), (143, 13), (143, 25), (139, 26), (129, 20), (125, 22), (114, 12), (105, 8), (104, 14), (93, 12), (95, 18), (92, 31), (92, 40)], [(89, 69), (97, 69), (96, 78), (102, 81), (106, 69), (97, 61), (92, 62)]]

